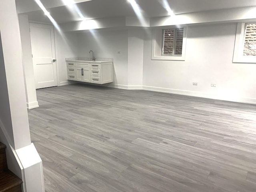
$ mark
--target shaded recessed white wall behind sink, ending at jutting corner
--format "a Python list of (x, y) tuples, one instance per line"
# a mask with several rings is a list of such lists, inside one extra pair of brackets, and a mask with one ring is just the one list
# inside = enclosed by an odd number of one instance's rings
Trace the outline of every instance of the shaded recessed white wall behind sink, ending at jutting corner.
[[(114, 58), (113, 84), (128, 85), (128, 31), (94, 30), (78, 33), (78, 56), (91, 57), (93, 50), (97, 58)], [(118, 54), (120, 51), (120, 54)]]

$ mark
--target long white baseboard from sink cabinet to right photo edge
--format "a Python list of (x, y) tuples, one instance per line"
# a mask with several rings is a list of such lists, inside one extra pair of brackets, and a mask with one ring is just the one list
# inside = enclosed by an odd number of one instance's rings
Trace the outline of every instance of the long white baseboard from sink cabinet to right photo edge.
[(221, 96), (217, 94), (209, 94), (206, 92), (196, 92), (196, 91), (178, 90), (178, 89), (151, 87), (151, 86), (127, 86), (127, 85), (119, 85), (119, 84), (111, 84), (108, 87), (126, 89), (126, 90), (148, 90), (148, 91), (164, 92), (164, 93), (170, 93), (170, 94), (194, 96), (194, 97), (209, 98), (209, 99), (216, 99), (216, 100), (256, 104), (256, 98), (242, 98), (242, 97), (228, 98), (225, 96)]

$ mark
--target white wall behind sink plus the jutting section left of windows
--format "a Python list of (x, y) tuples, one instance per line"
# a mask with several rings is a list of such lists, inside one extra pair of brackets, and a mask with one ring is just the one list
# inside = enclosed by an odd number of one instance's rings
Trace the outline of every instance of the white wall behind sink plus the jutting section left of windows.
[[(78, 33), (78, 56), (114, 59), (114, 82), (117, 88), (142, 89), (144, 30), (94, 30)], [(120, 54), (118, 54), (120, 52)]]

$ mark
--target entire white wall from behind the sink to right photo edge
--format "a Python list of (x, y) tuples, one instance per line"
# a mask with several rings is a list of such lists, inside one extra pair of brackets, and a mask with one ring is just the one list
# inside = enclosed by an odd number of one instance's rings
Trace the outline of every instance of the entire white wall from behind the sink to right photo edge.
[(188, 26), (185, 61), (151, 60), (152, 29), (142, 28), (79, 33), (78, 56), (114, 58), (117, 88), (256, 103), (256, 65), (232, 63), (236, 25)]

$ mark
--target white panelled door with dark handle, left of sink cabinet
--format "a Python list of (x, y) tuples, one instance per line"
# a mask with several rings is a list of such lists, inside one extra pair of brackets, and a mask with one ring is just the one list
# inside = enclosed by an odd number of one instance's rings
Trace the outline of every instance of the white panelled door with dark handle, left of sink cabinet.
[(57, 86), (54, 28), (29, 23), (36, 89)]

